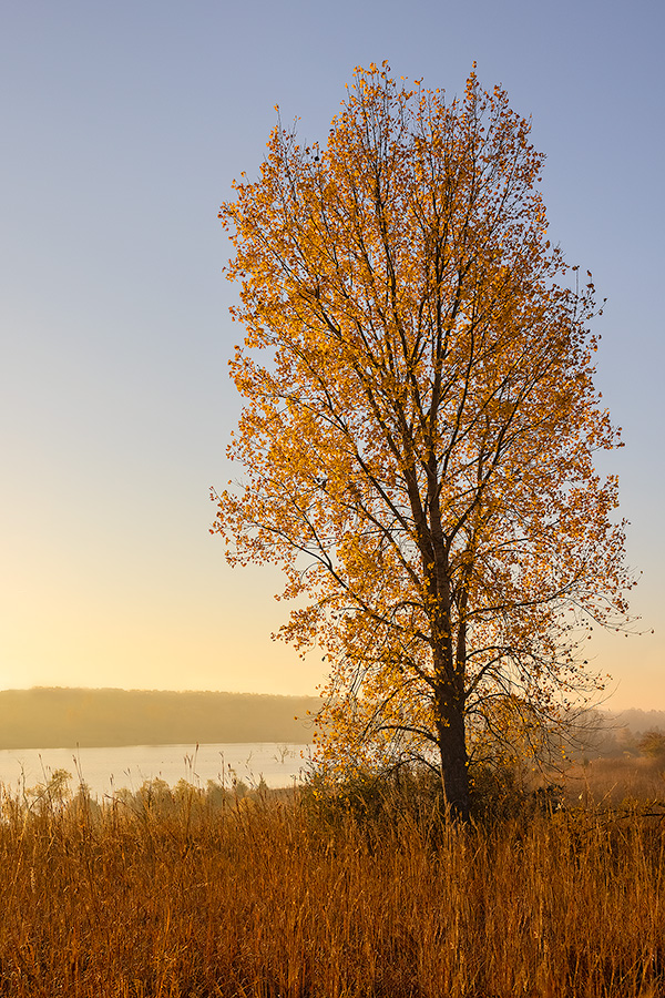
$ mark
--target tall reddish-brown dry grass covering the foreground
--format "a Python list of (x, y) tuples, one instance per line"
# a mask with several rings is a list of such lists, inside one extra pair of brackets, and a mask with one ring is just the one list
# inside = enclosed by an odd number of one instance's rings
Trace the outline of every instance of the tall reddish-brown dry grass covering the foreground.
[(0, 996), (664, 995), (663, 808), (585, 793), (461, 827), (413, 783), (99, 806), (55, 774), (2, 800)]

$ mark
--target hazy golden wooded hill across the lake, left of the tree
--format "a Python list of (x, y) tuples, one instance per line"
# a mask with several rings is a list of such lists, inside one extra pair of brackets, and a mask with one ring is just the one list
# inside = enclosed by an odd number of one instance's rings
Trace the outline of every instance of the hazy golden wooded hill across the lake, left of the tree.
[[(314, 696), (34, 688), (0, 691), (0, 748), (311, 741)], [(299, 720), (295, 720), (298, 717)]]

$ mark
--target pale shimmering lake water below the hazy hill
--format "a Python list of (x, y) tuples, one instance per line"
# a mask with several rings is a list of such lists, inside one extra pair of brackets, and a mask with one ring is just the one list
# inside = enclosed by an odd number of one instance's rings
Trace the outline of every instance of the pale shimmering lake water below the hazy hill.
[(200, 745), (127, 745), (120, 748), (3, 748), (0, 783), (14, 793), (44, 784), (55, 770), (72, 774), (75, 791), (83, 781), (102, 800), (121, 787), (136, 791), (146, 780), (174, 786), (186, 780), (205, 788), (215, 780), (231, 788), (234, 777), (249, 786), (263, 777), (270, 787), (293, 786), (307, 770), (308, 745), (276, 742)]

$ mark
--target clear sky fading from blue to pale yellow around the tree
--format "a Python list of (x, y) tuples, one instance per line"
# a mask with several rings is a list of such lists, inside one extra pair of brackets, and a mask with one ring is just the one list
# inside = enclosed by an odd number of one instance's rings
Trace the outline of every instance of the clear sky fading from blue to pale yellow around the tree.
[[(228, 568), (241, 330), (217, 221), (279, 104), (327, 134), (356, 65), (532, 118), (554, 242), (607, 296), (597, 386), (642, 572), (610, 707), (665, 709), (662, 0), (27, 0), (0, 11), (0, 689), (311, 693), (277, 570)], [(651, 630), (654, 629), (654, 634)]]

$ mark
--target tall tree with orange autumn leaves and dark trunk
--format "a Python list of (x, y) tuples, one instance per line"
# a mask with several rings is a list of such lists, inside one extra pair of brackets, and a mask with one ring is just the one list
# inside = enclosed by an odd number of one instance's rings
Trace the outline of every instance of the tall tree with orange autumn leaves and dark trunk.
[(621, 445), (529, 123), (474, 71), (449, 103), (389, 72), (356, 70), (325, 147), (278, 124), (222, 205), (246, 477), (213, 531), (284, 569), (280, 637), (325, 649), (326, 764), (424, 758), (466, 817), (469, 736), (593, 689), (582, 640), (626, 612), (593, 465)]

